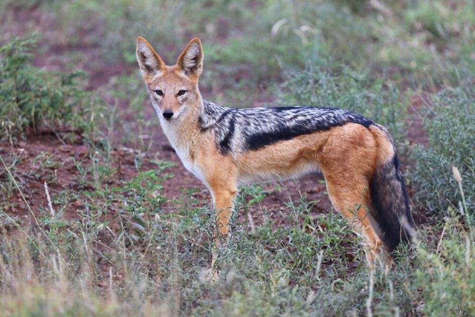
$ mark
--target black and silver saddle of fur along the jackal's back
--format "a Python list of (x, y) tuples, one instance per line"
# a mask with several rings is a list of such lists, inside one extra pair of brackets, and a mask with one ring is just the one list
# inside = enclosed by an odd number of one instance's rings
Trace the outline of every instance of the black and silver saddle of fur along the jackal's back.
[(300, 135), (328, 130), (345, 123), (365, 128), (373, 121), (343, 109), (330, 107), (259, 107), (228, 108), (203, 101), (199, 118), (202, 130), (213, 130), (223, 154), (258, 150), (267, 145)]

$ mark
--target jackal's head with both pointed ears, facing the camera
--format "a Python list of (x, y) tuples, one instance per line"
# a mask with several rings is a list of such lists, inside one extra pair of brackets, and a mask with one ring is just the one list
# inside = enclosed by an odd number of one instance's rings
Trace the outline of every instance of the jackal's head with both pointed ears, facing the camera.
[(167, 66), (149, 42), (139, 37), (137, 60), (160, 120), (174, 120), (199, 106), (198, 77), (203, 69), (203, 49), (198, 38), (186, 45), (176, 65)]

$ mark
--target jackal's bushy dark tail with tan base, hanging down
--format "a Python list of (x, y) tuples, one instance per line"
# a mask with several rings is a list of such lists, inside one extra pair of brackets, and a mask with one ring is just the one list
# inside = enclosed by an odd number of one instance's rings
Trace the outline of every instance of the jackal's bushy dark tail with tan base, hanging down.
[(381, 126), (375, 128), (380, 157), (370, 182), (370, 197), (381, 239), (392, 252), (399, 243), (411, 242), (414, 221), (391, 137)]

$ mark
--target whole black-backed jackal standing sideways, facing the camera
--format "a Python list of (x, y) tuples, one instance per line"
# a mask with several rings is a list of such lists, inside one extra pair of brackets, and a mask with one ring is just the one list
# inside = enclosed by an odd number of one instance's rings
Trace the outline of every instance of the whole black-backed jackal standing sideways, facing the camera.
[(382, 246), (390, 253), (410, 241), (409, 199), (383, 126), (336, 108), (237, 109), (203, 100), (198, 38), (188, 43), (176, 65), (166, 66), (139, 37), (137, 59), (168, 141), (212, 193), (219, 234), (229, 232), (238, 185), (320, 171), (332, 205), (364, 237), (370, 266)]

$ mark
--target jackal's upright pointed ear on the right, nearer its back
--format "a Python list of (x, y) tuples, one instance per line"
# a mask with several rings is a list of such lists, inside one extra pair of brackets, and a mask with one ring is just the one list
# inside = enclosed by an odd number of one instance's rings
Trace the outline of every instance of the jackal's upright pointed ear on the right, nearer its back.
[(201, 41), (195, 37), (181, 53), (176, 61), (178, 70), (185, 73), (191, 81), (197, 81), (203, 70), (203, 48)]

